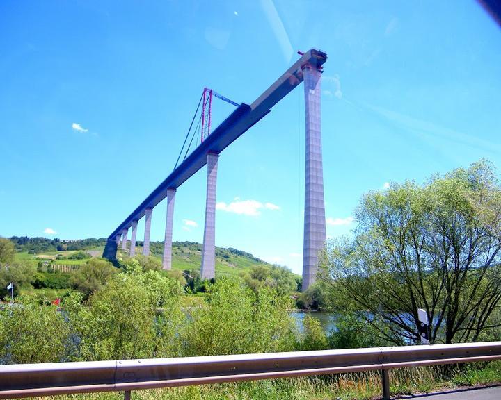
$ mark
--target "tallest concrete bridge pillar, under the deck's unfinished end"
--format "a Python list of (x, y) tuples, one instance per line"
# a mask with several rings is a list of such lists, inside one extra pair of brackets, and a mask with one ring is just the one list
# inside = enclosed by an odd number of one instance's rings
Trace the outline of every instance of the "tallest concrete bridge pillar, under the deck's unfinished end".
[(303, 67), (306, 122), (303, 290), (315, 282), (319, 252), (326, 243), (324, 172), (321, 153), (321, 72)]

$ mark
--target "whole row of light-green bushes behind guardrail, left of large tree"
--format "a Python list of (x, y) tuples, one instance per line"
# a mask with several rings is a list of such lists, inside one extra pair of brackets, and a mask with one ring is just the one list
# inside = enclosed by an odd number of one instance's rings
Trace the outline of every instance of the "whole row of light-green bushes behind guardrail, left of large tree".
[[(116, 271), (116, 269), (115, 269)], [(113, 272), (84, 301), (61, 308), (22, 297), (0, 311), (0, 362), (47, 363), (293, 351), (328, 347), (317, 319), (299, 331), (291, 300), (239, 278), (209, 285), (202, 308), (182, 307), (182, 285), (156, 271)], [(63, 310), (63, 311), (61, 311)], [(118, 326), (120, 328), (118, 328)]]

